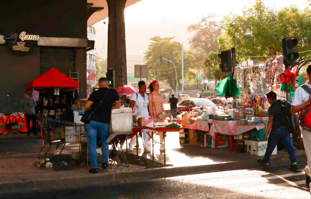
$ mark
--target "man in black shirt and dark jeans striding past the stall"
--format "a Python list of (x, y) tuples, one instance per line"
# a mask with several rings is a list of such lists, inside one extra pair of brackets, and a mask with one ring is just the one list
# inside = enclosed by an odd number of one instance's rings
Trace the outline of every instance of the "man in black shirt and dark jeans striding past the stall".
[(283, 142), (283, 144), (286, 147), (286, 150), (288, 152), (288, 155), (290, 156), (290, 170), (296, 171), (298, 169), (297, 166), (297, 160), (295, 156), (295, 149), (291, 144), (290, 141), (290, 131), (286, 127), (286, 123), (283, 119), (283, 117), (287, 117), (282, 113), (282, 101), (276, 100), (276, 93), (275, 92), (269, 92), (267, 94), (268, 102), (271, 104), (271, 106), (268, 109), (269, 119), (267, 123), (267, 128), (264, 134), (264, 139), (267, 140), (267, 134), (271, 129), (271, 132), (269, 134), (268, 144), (267, 144), (267, 150), (265, 153), (265, 156), (262, 159), (258, 158), (258, 163), (262, 166), (267, 166), (272, 154), (272, 151), (277, 146), (279, 142)]

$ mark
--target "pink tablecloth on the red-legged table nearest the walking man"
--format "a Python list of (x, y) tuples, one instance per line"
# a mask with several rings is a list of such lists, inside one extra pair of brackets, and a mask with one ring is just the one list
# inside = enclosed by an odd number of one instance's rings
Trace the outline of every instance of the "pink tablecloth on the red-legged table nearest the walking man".
[(222, 135), (240, 135), (254, 128), (257, 130), (266, 128), (266, 126), (238, 125), (237, 121), (219, 121), (214, 120), (209, 134), (215, 138), (215, 133)]

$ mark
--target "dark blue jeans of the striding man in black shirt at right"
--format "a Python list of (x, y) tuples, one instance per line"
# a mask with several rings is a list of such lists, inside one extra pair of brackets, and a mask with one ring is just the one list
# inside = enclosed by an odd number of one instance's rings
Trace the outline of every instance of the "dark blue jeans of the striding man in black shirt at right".
[(283, 142), (284, 146), (286, 147), (291, 163), (297, 162), (295, 149), (290, 142), (290, 132), (287, 127), (278, 128), (275, 132), (270, 133), (268, 138), (268, 146), (263, 161), (265, 163), (269, 163), (272, 151), (279, 142)]

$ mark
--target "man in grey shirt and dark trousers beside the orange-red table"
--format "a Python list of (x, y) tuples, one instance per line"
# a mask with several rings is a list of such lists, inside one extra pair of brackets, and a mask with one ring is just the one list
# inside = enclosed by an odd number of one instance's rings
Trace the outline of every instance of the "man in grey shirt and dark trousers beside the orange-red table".
[(30, 135), (31, 128), (30, 128), (30, 121), (32, 122), (32, 131), (34, 135), (37, 135), (36, 132), (36, 114), (35, 114), (35, 107), (37, 103), (35, 99), (29, 97), (27, 92), (23, 92), (23, 97), (21, 102), (21, 109), (22, 112), (25, 114), (26, 125), (27, 125), (27, 136)]

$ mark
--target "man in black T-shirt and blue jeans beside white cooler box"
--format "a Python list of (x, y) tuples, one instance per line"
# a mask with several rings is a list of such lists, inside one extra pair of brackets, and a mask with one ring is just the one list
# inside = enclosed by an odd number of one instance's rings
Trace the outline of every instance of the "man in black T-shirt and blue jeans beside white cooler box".
[[(120, 100), (116, 90), (109, 89), (108, 80), (104, 77), (98, 81), (99, 90), (91, 93), (85, 104), (85, 109), (94, 109), (95, 112), (90, 123), (86, 124), (87, 139), (89, 141), (89, 153), (91, 157), (92, 169), (90, 173), (98, 173), (98, 162), (96, 152), (97, 133), (101, 137), (101, 150), (103, 153), (103, 169), (108, 168), (108, 127), (111, 118), (111, 109), (120, 108)], [(96, 107), (96, 108), (95, 108)], [(97, 108), (98, 107), (98, 108)]]

